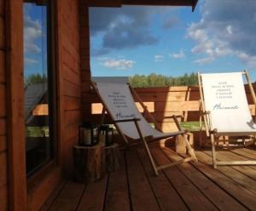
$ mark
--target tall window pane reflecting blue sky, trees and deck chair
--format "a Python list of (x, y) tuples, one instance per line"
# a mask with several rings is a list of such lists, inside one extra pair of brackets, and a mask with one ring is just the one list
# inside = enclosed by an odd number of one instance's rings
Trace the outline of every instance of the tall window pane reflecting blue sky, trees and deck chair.
[(55, 68), (49, 2), (23, 4), (27, 176), (55, 157)]

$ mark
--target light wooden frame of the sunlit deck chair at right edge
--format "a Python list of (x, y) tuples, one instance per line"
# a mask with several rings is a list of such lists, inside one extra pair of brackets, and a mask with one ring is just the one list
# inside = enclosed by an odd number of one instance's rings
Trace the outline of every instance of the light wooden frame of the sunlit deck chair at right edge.
[[(250, 93), (252, 94), (253, 98), (253, 104), (255, 105), (255, 111), (256, 111), (256, 97), (255, 93), (253, 90), (253, 85), (251, 83), (251, 79), (248, 75), (248, 72), (245, 70), (242, 72), (243, 75), (245, 75), (248, 83), (248, 87), (250, 90)], [(204, 122), (205, 129), (207, 132), (207, 137), (210, 137), (211, 139), (211, 145), (212, 145), (212, 165), (213, 168), (217, 168), (217, 166), (225, 166), (225, 165), (256, 165), (256, 161), (217, 161), (217, 156), (216, 156), (216, 149), (215, 149), (215, 143), (216, 143), (216, 138), (218, 138), (218, 130), (217, 128), (211, 128), (211, 112), (206, 111), (206, 106), (205, 106), (205, 100), (204, 100), (204, 95), (203, 95), (203, 87), (202, 87), (202, 82), (201, 82), (201, 73), (198, 72), (198, 83), (199, 83), (199, 91), (200, 91), (200, 110), (201, 110), (201, 117), (200, 117), (200, 136), (202, 133), (202, 121)], [(256, 114), (256, 112), (255, 112)], [(203, 120), (202, 120), (203, 117)], [(254, 122), (256, 120), (256, 115), (254, 116)], [(221, 136), (223, 136), (222, 134)], [(237, 134), (227, 134), (228, 136), (237, 136)], [(201, 138), (200, 138), (201, 139)], [(255, 141), (255, 134), (254, 134), (254, 141)]]

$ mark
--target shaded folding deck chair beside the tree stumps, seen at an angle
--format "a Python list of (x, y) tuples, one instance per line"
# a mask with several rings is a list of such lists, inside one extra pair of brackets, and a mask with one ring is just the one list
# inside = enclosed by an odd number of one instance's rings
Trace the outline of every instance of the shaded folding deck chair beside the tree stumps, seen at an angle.
[[(148, 117), (152, 119), (152, 121), (154, 121), (154, 117), (150, 114), (150, 112), (147, 110), (147, 107), (144, 106), (143, 101), (140, 100), (135, 90), (131, 88), (128, 83), (119, 83), (118, 80), (112, 77), (110, 82), (106, 82), (106, 80), (105, 82), (91, 81), (91, 84), (102, 100), (102, 115), (105, 114), (105, 111), (108, 112), (108, 115), (112, 118), (115, 127), (125, 142), (129, 144), (129, 139), (143, 142), (155, 175), (158, 175), (158, 170), (160, 169), (172, 167), (178, 163), (185, 163), (191, 160), (196, 160), (195, 152), (189, 145), (189, 141), (185, 136), (185, 131), (179, 129), (174, 133), (163, 134), (148, 124), (140, 111), (137, 110), (137, 106), (133, 100), (132, 94), (134, 94), (137, 100), (139, 100), (139, 103), (144, 110), (143, 113), (147, 114)], [(176, 123), (178, 123), (175, 116), (174, 120)], [(154, 123), (156, 122), (154, 121)], [(177, 135), (183, 136), (183, 140), (185, 141), (186, 147), (191, 157), (184, 158), (177, 162), (168, 163), (166, 165), (156, 166), (147, 142), (153, 140), (164, 140), (167, 138), (175, 137)]]

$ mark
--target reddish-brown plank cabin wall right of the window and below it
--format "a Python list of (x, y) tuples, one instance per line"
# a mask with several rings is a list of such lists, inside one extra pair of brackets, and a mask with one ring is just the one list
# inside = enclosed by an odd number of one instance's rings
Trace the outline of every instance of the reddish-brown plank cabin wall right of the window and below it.
[[(86, 9), (86, 8), (85, 8)], [(79, 139), (81, 66), (79, 0), (56, 0), (55, 49), (57, 88), (57, 167), (28, 195), (30, 210), (38, 210), (62, 178), (73, 176), (73, 145)], [(61, 168), (60, 168), (61, 167)], [(60, 170), (61, 169), (61, 170)]]

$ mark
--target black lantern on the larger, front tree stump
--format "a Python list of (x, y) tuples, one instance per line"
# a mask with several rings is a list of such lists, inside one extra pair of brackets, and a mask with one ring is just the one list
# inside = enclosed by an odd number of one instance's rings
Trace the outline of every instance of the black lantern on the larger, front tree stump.
[(83, 123), (79, 126), (79, 145), (96, 145), (98, 143), (98, 125)]

